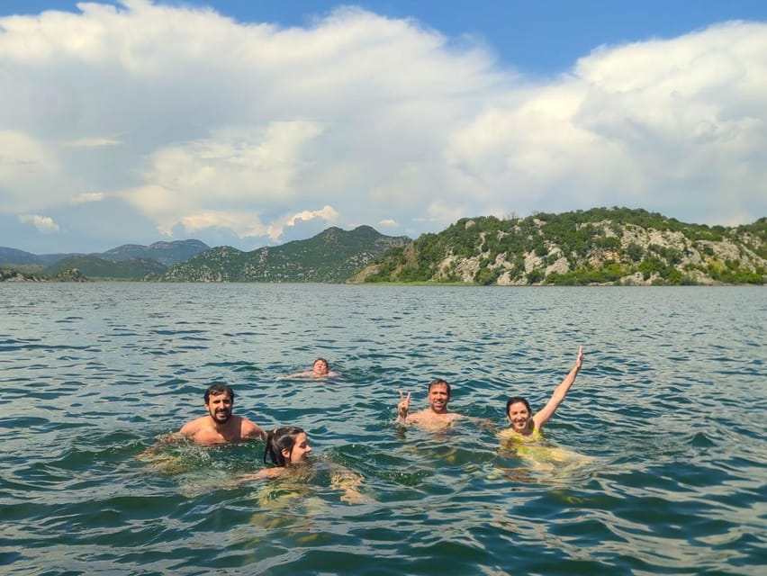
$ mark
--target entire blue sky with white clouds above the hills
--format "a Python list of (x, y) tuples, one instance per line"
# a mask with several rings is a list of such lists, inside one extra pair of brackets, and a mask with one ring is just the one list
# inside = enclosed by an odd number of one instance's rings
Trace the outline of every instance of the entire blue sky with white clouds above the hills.
[(767, 3), (5, 0), (0, 247), (767, 216)]

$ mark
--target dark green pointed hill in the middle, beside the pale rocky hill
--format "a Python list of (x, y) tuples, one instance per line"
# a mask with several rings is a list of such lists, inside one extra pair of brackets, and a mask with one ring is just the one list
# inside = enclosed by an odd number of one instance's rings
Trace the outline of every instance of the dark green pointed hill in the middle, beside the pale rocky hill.
[(243, 252), (216, 247), (171, 267), (164, 282), (344, 282), (392, 247), (411, 239), (383, 236), (369, 226), (329, 228), (306, 240)]

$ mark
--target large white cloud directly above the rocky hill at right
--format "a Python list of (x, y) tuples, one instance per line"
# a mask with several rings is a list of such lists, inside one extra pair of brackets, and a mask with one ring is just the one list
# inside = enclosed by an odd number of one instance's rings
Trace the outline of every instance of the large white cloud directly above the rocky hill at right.
[(767, 198), (767, 166), (753, 163), (767, 144), (758, 104), (767, 51), (756, 46), (767, 50), (767, 26), (732, 23), (602, 48), (573, 75), (457, 130), (448, 151), (455, 181), (465, 177), (479, 197), (524, 191), (510, 205), (517, 211), (618, 203), (722, 223), (740, 204), (751, 206), (744, 221), (754, 220)]

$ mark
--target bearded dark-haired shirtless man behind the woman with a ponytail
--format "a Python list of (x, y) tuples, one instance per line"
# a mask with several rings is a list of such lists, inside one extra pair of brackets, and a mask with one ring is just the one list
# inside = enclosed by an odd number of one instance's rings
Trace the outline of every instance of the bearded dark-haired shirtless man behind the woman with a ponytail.
[(226, 444), (266, 438), (257, 424), (231, 413), (234, 391), (226, 384), (213, 384), (205, 391), (207, 416), (187, 422), (178, 433), (197, 444)]

